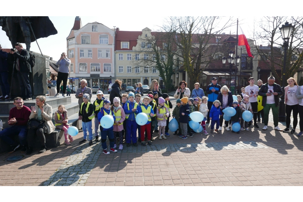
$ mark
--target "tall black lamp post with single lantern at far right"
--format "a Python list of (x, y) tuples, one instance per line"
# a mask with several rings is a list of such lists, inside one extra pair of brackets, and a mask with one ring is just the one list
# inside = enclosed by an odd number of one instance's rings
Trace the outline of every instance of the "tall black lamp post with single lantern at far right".
[(282, 73), (282, 91), (283, 94), (281, 96), (280, 104), (279, 104), (279, 121), (286, 121), (286, 114), (285, 114), (285, 103), (284, 103), (284, 85), (285, 85), (285, 71), (286, 71), (286, 51), (288, 48), (289, 38), (291, 37), (291, 32), (294, 29), (294, 26), (288, 24), (286, 21), (282, 27), (279, 27), (283, 39), (283, 47), (284, 47), (284, 59), (283, 59), (283, 73)]

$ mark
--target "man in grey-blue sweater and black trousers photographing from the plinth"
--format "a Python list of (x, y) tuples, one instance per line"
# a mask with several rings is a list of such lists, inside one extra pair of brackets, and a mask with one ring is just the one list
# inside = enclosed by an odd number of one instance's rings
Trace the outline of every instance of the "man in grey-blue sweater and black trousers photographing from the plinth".
[(66, 90), (67, 78), (69, 73), (69, 65), (71, 64), (71, 60), (67, 58), (66, 53), (62, 53), (60, 59), (57, 62), (59, 66), (59, 72), (57, 76), (57, 94), (55, 97), (59, 95), (60, 92), (60, 84), (63, 81), (63, 90), (62, 95), (65, 97), (64, 93)]

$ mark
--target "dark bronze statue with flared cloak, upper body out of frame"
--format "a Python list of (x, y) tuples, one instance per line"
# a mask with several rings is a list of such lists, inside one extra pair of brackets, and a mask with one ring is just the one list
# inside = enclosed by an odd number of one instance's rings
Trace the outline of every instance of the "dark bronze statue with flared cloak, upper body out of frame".
[(15, 43), (25, 43), (28, 51), (31, 42), (58, 33), (47, 16), (1, 16), (0, 26), (13, 48)]

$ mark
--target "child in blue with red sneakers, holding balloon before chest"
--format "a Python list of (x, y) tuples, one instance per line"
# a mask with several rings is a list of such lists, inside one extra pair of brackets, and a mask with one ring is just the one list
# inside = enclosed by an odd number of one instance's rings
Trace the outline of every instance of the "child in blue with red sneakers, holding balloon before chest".
[[(112, 117), (114, 118), (114, 121), (116, 120), (115, 114), (112, 110), (110, 110), (111, 107), (111, 102), (108, 99), (105, 99), (103, 101), (103, 107), (100, 109), (99, 113), (98, 113), (98, 121), (100, 124), (100, 120), (103, 116), (105, 115), (112, 115)], [(110, 154), (110, 152), (107, 151), (107, 145), (106, 145), (106, 138), (108, 137), (109, 140), (109, 146), (110, 146), (110, 151), (111, 152), (118, 152), (118, 150), (116, 150), (114, 148), (115, 145), (115, 140), (114, 140), (114, 127), (110, 127), (110, 128), (103, 128), (100, 125), (100, 131), (101, 131), (101, 144), (102, 144), (102, 149), (103, 149), (103, 153), (104, 154)]]

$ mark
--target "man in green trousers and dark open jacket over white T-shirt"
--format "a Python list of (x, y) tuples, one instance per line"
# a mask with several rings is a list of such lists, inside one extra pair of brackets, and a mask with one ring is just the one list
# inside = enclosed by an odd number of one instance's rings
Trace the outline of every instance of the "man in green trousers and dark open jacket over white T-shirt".
[(258, 92), (258, 95), (261, 95), (262, 106), (264, 107), (264, 127), (262, 130), (267, 130), (269, 111), (271, 109), (273, 120), (274, 120), (274, 129), (282, 131), (278, 127), (278, 109), (279, 109), (279, 97), (283, 94), (281, 86), (275, 83), (275, 77), (271, 75), (268, 77), (267, 83), (263, 84)]

